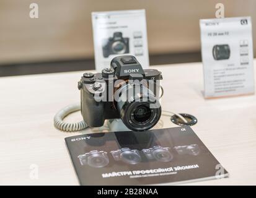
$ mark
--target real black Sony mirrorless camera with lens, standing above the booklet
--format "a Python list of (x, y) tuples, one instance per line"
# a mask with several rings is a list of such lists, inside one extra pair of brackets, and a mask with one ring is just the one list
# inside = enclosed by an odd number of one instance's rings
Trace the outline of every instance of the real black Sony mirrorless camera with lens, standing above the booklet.
[(151, 129), (161, 116), (161, 72), (144, 69), (134, 56), (118, 56), (101, 73), (85, 73), (78, 82), (81, 113), (90, 127), (121, 118), (131, 131)]

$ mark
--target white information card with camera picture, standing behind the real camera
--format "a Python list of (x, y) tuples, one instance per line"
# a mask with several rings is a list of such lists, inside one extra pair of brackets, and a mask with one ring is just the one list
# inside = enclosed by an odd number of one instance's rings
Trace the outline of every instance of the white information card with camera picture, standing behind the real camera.
[(133, 55), (143, 68), (149, 66), (144, 10), (92, 12), (92, 27), (97, 71), (122, 55)]

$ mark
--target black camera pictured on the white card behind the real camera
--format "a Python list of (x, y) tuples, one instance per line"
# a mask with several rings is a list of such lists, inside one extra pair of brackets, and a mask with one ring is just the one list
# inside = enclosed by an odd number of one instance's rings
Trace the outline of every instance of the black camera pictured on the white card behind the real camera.
[(111, 54), (129, 53), (129, 38), (123, 38), (121, 32), (115, 32), (113, 37), (102, 41), (102, 51), (104, 58), (108, 58)]

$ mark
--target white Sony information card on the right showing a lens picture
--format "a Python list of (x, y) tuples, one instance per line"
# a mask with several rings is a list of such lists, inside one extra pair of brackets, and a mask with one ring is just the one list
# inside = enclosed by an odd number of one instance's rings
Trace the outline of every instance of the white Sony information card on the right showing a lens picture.
[(205, 98), (254, 93), (250, 17), (201, 19)]

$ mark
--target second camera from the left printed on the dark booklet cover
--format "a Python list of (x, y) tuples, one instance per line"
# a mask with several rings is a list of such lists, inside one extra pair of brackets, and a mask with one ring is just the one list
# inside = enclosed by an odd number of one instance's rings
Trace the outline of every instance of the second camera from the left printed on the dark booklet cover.
[(130, 165), (135, 165), (141, 161), (141, 156), (139, 155), (138, 150), (121, 148), (119, 150), (112, 150), (110, 153), (116, 161), (123, 161)]

